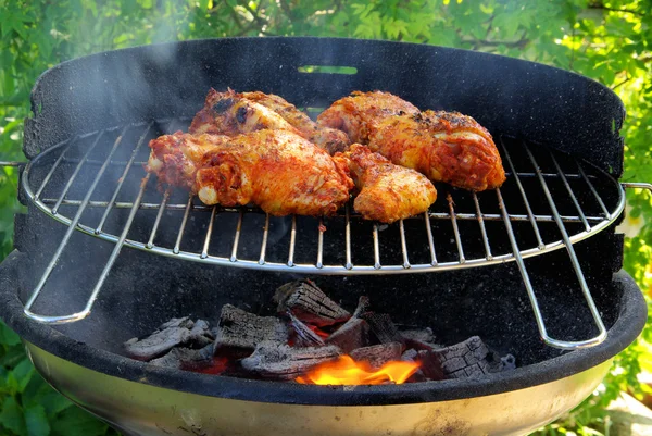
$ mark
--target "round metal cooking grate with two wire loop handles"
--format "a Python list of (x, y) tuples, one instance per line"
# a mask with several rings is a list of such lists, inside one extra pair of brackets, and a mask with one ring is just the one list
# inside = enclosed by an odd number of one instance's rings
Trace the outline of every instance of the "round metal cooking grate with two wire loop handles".
[[(30, 202), (68, 228), (25, 304), (27, 316), (46, 323), (86, 317), (127, 246), (196, 262), (301, 274), (438, 272), (516, 261), (548, 345), (573, 349), (606, 337), (573, 244), (612, 223), (625, 198), (623, 187), (593, 165), (496, 136), (507, 171), (501, 189), (475, 194), (437, 186), (439, 198), (427, 213), (389, 226), (361, 220), (352, 204), (328, 219), (278, 219), (255, 208), (206, 207), (183, 190), (156, 186), (155, 176), (143, 170), (147, 144), (185, 129), (188, 122), (78, 135), (28, 163), (22, 185)], [(75, 229), (115, 244), (86, 307), (66, 315), (32, 312)], [(524, 262), (564, 247), (599, 331), (587, 340), (548, 335)]]

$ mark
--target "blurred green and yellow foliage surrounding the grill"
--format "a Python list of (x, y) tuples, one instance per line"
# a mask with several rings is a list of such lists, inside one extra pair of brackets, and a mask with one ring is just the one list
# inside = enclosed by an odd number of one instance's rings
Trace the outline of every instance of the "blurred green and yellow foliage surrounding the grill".
[[(0, 0), (0, 159), (22, 161), (29, 90), (47, 68), (103, 50), (192, 38), (337, 36), (439, 45), (542, 62), (594, 78), (624, 100), (624, 180), (652, 182), (652, 0)], [(0, 259), (12, 249), (17, 169), (0, 172)], [(652, 294), (652, 203), (627, 194), (625, 267)], [(649, 322), (650, 323), (650, 322)], [(610, 434), (605, 407), (643, 399), (652, 328), (597, 393), (541, 433)], [(0, 325), (0, 434), (104, 435), (105, 424), (52, 390)]]

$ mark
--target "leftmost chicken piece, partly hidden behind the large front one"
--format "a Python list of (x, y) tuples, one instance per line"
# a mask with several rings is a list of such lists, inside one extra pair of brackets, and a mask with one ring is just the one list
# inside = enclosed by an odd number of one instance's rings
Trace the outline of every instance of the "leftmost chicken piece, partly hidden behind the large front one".
[(195, 176), (203, 155), (230, 138), (224, 135), (192, 136), (180, 130), (152, 139), (146, 170), (159, 182), (193, 189)]

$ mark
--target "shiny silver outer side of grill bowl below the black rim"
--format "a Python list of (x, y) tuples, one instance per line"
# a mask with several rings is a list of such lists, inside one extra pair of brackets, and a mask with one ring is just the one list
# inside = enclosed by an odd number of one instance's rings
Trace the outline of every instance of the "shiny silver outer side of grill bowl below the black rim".
[[(97, 373), (27, 344), (48, 382), (126, 435), (524, 435), (589, 396), (611, 359), (525, 389), (421, 404), (305, 406), (205, 397)], [(92, 386), (92, 389), (88, 389)], [(540, 400), (553, 399), (542, 407)]]

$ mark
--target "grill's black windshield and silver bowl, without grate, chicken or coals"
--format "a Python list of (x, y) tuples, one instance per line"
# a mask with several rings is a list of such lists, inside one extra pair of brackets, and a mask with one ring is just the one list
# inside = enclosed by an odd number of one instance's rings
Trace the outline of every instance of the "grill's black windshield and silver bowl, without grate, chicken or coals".
[[(353, 66), (358, 74), (301, 73), (298, 68), (305, 65)], [(592, 80), (463, 50), (317, 38), (188, 41), (63, 63), (35, 86), (25, 154), (34, 158), (76, 135), (116, 125), (192, 116), (211, 86), (260, 89), (305, 108), (326, 107), (356, 89), (388, 90), (424, 109), (467, 113), (494, 136), (544, 144), (614, 177), (622, 173), (623, 105)], [(62, 186), (65, 179), (53, 184)], [(25, 192), (21, 195), (29, 204)], [(127, 212), (117, 211), (113, 219), (124, 222)], [(136, 225), (128, 236), (142, 234), (141, 240), (147, 240), (149, 224), (151, 220)], [(33, 204), (16, 217), (16, 251), (0, 265), (0, 316), (25, 339), (35, 364), (53, 386), (131, 434), (377, 434), (379, 425), (393, 434), (524, 434), (589, 395), (611, 359), (636, 338), (645, 321), (639, 289), (618, 273), (623, 240), (611, 225), (575, 246), (609, 329), (607, 339), (590, 349), (564, 353), (540, 341), (512, 262), (437, 274), (324, 276), (317, 282), (348, 308), (367, 295), (376, 311), (392, 313), (399, 323), (430, 326), (444, 344), (479, 334), (490, 347), (517, 357), (521, 368), (513, 372), (475, 381), (349, 389), (171, 371), (121, 357), (122, 344), (172, 316), (215, 320), (227, 302), (264, 313), (272, 310), (276, 286), (300, 275), (181, 262), (125, 249), (90, 316), (46, 326), (25, 319), (23, 306), (65, 229)], [(213, 237), (220, 236), (214, 229)], [(36, 309), (80, 309), (113, 247), (75, 232), (48, 284), (50, 291)], [(565, 250), (535, 257), (527, 265), (535, 288), (541, 290), (539, 303), (551, 334), (575, 340), (593, 335), (591, 314), (574, 285)], [(89, 390), (89, 385), (97, 389)], [(544, 406), (530, 408), (531, 396), (539, 396)], [(478, 414), (478, 408), (487, 413)], [(284, 426), (269, 416), (278, 416)]]

